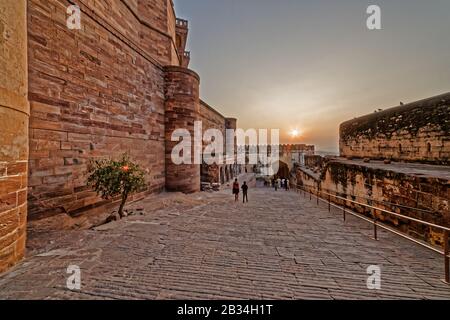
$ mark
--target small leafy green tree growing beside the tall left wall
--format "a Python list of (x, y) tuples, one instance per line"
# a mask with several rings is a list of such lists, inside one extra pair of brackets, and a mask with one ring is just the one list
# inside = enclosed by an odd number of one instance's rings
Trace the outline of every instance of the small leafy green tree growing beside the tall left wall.
[(123, 209), (128, 197), (145, 188), (144, 171), (127, 154), (118, 161), (112, 159), (93, 160), (89, 165), (88, 185), (103, 199), (121, 196), (119, 216), (124, 217)]

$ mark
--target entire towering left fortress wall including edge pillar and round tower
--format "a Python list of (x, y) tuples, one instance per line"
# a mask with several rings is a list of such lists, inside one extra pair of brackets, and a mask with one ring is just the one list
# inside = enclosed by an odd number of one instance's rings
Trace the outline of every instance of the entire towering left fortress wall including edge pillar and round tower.
[(171, 163), (171, 130), (226, 126), (200, 110), (189, 24), (172, 0), (77, 3), (80, 30), (67, 27), (67, 0), (0, 2), (0, 272), (23, 256), (27, 215), (115, 206), (86, 186), (91, 159), (129, 153), (147, 172), (136, 197), (195, 192), (200, 165)]

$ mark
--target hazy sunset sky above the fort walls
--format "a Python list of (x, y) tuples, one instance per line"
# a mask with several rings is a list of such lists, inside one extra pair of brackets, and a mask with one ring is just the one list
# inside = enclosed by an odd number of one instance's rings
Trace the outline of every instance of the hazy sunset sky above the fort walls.
[[(382, 30), (366, 27), (370, 4)], [(337, 150), (339, 124), (450, 91), (450, 0), (175, 0), (201, 95), (241, 128)], [(298, 128), (296, 139), (288, 133)]]

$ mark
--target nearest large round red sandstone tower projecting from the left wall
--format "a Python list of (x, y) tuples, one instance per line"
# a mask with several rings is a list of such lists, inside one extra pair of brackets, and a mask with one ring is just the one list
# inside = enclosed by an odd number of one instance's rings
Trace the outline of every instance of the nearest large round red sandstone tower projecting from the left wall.
[[(194, 163), (194, 122), (200, 119), (199, 76), (186, 68), (165, 68), (165, 140), (166, 189), (193, 193), (200, 191), (200, 163)], [(171, 141), (176, 129), (187, 129), (192, 137), (191, 164), (174, 164), (173, 148), (179, 143)]]

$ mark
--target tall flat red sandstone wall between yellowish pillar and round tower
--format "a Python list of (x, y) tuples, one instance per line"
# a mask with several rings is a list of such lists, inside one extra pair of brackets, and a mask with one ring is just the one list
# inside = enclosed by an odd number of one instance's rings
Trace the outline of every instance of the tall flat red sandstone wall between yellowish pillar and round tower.
[(77, 3), (82, 30), (66, 27), (69, 2), (28, 1), (30, 218), (103, 205), (85, 184), (93, 157), (129, 152), (148, 192), (165, 186), (167, 1)]

